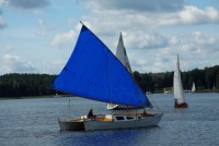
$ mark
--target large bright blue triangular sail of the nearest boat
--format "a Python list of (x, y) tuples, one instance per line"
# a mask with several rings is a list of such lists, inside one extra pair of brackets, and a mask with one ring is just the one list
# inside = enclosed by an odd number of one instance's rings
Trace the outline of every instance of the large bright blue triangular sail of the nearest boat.
[(84, 25), (54, 89), (104, 102), (151, 107), (127, 69)]

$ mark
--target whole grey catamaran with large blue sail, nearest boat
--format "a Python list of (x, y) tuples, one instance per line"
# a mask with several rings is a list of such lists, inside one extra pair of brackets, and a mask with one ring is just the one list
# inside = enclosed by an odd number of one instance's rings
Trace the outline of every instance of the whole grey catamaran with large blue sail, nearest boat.
[[(82, 24), (82, 23), (81, 23)], [(82, 98), (153, 108), (128, 70), (84, 25), (72, 54), (54, 82), (54, 89)], [(112, 113), (58, 119), (64, 131), (99, 131), (157, 126), (163, 113)]]

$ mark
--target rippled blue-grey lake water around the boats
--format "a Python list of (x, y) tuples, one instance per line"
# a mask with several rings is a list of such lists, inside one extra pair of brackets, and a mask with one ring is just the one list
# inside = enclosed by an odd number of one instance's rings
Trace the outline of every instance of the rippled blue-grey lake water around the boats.
[(188, 108), (174, 109), (172, 94), (149, 95), (164, 112), (159, 126), (96, 132), (60, 132), (57, 119), (87, 114), (90, 108), (112, 112), (102, 102), (78, 97), (0, 100), (0, 146), (218, 146), (219, 94), (185, 97)]

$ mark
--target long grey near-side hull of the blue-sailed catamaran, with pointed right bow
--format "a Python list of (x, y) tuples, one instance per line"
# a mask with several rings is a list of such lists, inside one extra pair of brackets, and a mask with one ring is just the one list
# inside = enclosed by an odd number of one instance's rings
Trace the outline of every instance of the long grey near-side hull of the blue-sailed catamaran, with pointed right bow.
[(136, 129), (157, 126), (162, 118), (163, 113), (154, 114), (151, 117), (141, 117), (140, 119), (132, 121), (110, 121), (102, 122), (95, 120), (85, 120), (85, 131), (103, 131), (103, 130), (120, 130), (120, 129)]

